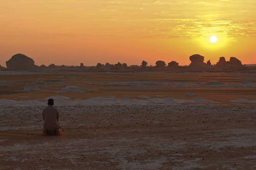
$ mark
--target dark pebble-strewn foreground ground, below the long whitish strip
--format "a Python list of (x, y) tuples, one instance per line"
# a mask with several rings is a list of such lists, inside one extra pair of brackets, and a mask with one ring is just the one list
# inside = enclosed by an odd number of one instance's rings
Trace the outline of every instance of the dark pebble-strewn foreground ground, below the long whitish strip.
[(0, 109), (0, 169), (256, 169), (255, 107), (62, 106), (58, 137)]

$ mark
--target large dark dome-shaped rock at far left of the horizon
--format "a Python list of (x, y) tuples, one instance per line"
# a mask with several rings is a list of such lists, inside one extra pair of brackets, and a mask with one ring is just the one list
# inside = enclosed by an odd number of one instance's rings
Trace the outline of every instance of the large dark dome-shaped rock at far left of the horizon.
[(15, 54), (12, 58), (6, 61), (7, 69), (9, 70), (35, 70), (39, 66), (34, 64), (34, 60), (23, 54)]

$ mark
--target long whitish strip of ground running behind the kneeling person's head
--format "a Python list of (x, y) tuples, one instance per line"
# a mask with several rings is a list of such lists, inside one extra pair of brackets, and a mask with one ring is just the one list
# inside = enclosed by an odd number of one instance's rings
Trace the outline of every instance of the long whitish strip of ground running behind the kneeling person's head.
[(27, 100), (27, 101), (14, 101), (14, 100), (0, 100), (0, 106), (44, 106), (46, 105), (46, 100), (54, 99), (55, 105), (58, 106), (75, 106), (75, 105), (92, 105), (92, 106), (109, 106), (109, 105), (180, 105), (184, 103), (218, 103), (215, 101), (205, 100), (202, 98), (194, 98), (194, 99), (174, 99), (174, 98), (150, 98), (150, 99), (128, 99), (128, 98), (103, 98), (103, 97), (94, 97), (87, 100), (70, 100), (70, 98), (66, 96), (49, 96), (44, 99), (39, 100)]

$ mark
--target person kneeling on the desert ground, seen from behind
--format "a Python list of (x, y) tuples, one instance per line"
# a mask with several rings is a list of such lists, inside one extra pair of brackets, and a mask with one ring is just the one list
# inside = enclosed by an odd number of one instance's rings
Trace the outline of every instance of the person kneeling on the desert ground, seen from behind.
[(42, 118), (44, 119), (44, 129), (42, 132), (44, 135), (60, 135), (58, 125), (59, 111), (54, 106), (54, 100), (48, 100), (48, 107), (42, 110)]

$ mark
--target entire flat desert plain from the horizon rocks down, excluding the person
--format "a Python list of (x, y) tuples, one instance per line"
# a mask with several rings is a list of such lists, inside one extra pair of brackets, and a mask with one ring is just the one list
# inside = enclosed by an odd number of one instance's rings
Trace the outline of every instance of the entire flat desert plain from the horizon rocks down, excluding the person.
[[(0, 169), (256, 169), (256, 74), (0, 72)], [(61, 136), (42, 135), (53, 98)]]

